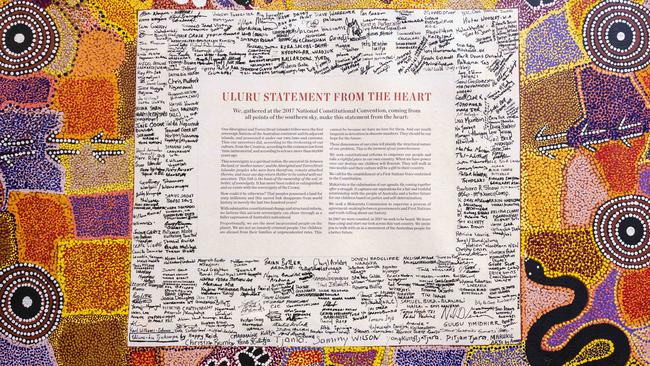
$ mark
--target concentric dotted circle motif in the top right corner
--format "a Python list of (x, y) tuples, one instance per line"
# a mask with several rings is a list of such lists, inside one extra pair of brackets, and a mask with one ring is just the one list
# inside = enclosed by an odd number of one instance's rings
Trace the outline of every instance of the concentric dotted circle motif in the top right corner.
[(582, 27), (585, 50), (599, 67), (618, 73), (650, 65), (650, 10), (627, 0), (605, 0)]

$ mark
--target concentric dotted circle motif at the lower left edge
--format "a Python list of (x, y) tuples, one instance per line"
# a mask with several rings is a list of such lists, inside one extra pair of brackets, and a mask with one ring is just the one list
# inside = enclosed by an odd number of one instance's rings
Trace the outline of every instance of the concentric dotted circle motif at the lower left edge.
[(63, 293), (43, 268), (15, 264), (0, 271), (0, 331), (26, 344), (50, 336), (61, 320)]

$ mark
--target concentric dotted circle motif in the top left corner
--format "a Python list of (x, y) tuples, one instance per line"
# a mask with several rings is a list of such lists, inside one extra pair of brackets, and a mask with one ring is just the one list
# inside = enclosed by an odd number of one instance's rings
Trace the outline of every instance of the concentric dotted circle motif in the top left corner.
[(59, 48), (59, 32), (47, 12), (27, 1), (0, 8), (0, 74), (24, 75), (49, 64)]

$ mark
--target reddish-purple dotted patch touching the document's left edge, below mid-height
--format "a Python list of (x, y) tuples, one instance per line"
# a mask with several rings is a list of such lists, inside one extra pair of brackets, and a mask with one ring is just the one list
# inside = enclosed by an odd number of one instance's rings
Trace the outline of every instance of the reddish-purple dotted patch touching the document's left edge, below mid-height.
[(70, 203), (77, 237), (128, 237), (131, 234), (128, 194), (71, 196)]

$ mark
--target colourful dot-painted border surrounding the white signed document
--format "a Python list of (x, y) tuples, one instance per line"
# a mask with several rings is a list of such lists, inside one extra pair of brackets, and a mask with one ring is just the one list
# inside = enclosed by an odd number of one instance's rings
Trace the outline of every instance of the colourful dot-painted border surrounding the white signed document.
[[(126, 344), (137, 11), (518, 8), (522, 334), (485, 347)], [(650, 5), (0, 0), (0, 365), (650, 365)]]

